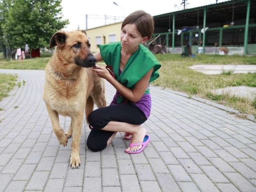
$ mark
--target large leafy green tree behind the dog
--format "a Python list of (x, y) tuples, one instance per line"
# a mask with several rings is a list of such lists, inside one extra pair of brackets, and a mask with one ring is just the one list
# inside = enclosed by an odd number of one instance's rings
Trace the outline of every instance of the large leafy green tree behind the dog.
[(68, 24), (68, 20), (62, 20), (60, 3), (61, 0), (2, 0), (8, 6), (2, 6), (2, 10), (0, 6), (0, 30), (10, 46), (19, 48), (27, 43), (30, 49), (48, 47), (52, 34)]

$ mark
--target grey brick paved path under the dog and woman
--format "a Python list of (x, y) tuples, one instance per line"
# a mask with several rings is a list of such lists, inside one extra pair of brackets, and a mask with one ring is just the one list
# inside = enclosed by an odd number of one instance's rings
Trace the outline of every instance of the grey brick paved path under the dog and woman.
[[(144, 124), (151, 142), (144, 152), (124, 153), (128, 142), (121, 134), (102, 152), (91, 152), (84, 124), (81, 166), (72, 170), (71, 142), (60, 146), (42, 100), (44, 71), (3, 72), (18, 74), (21, 86), (0, 102), (0, 192), (256, 191), (256, 123), (220, 105), (151, 87), (152, 114)], [(113, 94), (106, 84), (108, 103)], [(70, 119), (60, 122), (67, 130)]]

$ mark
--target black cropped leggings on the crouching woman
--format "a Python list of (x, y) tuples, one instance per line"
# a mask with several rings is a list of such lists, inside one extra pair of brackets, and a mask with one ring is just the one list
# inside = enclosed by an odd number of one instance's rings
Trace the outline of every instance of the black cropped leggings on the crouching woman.
[(87, 147), (94, 152), (106, 148), (108, 139), (115, 132), (104, 131), (101, 129), (110, 121), (140, 125), (146, 120), (147, 118), (145, 114), (139, 108), (129, 103), (96, 109), (88, 116), (88, 122), (93, 129), (88, 136)]

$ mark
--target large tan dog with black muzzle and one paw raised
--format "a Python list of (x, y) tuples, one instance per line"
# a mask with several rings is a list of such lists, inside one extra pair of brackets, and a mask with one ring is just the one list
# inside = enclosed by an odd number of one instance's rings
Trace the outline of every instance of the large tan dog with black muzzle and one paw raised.
[[(92, 112), (94, 102), (98, 108), (106, 106), (102, 78), (92, 71), (96, 59), (90, 52), (85, 31), (58, 31), (50, 40), (56, 46), (45, 68), (43, 99), (52, 121), (53, 131), (63, 146), (73, 136), (70, 166), (80, 166), (79, 145), (84, 116)], [(68, 132), (60, 127), (59, 114), (71, 118)]]

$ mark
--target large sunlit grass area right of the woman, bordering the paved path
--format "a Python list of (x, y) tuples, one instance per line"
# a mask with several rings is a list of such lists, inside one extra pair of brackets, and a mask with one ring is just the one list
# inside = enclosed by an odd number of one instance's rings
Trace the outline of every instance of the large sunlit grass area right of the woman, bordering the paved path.
[(228, 86), (256, 87), (256, 73), (224, 72), (218, 75), (206, 75), (188, 68), (195, 64), (256, 64), (256, 56), (202, 54), (195, 58), (182, 58), (180, 54), (157, 54), (156, 58), (162, 67), (159, 70), (160, 77), (152, 82), (153, 85), (170, 88), (188, 95), (193, 94), (256, 117), (256, 101), (251, 102), (248, 99), (227, 95), (214, 95), (210, 92), (210, 90)]

